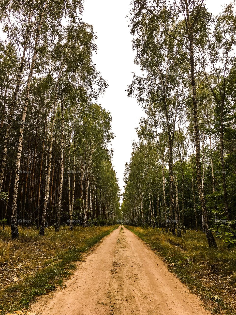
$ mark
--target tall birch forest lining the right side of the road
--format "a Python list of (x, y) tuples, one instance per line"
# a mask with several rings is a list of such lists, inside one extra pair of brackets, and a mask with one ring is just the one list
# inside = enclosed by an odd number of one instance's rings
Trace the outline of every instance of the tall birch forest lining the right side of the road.
[(143, 106), (126, 163), (121, 210), (131, 224), (181, 237), (205, 232), (229, 247), (235, 231), (236, 15), (201, 2), (135, 1), (130, 23), (142, 74), (128, 87)]

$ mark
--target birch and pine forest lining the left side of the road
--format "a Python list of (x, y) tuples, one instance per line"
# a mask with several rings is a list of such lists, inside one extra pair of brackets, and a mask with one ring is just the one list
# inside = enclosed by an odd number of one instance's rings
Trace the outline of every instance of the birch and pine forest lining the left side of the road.
[(6, 1), (0, 43), (0, 217), (45, 227), (111, 224), (119, 210), (107, 88), (93, 64), (96, 34), (80, 1)]

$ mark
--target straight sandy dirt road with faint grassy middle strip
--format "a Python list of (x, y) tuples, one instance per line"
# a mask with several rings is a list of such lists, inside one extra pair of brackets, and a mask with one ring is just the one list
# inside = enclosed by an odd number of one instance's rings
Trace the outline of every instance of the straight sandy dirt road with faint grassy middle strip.
[(210, 315), (196, 296), (136, 235), (121, 226), (104, 238), (52, 297), (31, 307), (41, 315)]

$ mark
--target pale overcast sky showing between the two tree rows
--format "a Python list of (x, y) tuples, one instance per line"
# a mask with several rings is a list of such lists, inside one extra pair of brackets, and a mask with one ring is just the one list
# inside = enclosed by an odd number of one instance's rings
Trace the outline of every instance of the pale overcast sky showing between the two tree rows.
[[(205, 0), (206, 7), (212, 14), (221, 10), (221, 5), (229, 0)], [(127, 97), (127, 85), (132, 82), (132, 72), (139, 72), (134, 65), (135, 53), (132, 51), (132, 37), (128, 18), (130, 0), (85, 0), (83, 20), (93, 24), (97, 33), (98, 54), (94, 63), (107, 80), (109, 87), (98, 100), (106, 110), (111, 112), (112, 131), (115, 139), (113, 165), (123, 192), (123, 174), (125, 163), (129, 162), (132, 141), (136, 140), (135, 128), (143, 116), (143, 110), (135, 99)]]

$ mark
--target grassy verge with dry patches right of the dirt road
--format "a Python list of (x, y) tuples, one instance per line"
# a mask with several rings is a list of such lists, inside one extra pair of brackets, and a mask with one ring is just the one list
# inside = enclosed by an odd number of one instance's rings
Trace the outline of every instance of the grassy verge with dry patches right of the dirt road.
[[(126, 227), (149, 244), (213, 314), (236, 314), (235, 248), (217, 240), (218, 248), (211, 249), (202, 232), (188, 230), (178, 238), (157, 228)], [(213, 301), (214, 296), (220, 301)]]

